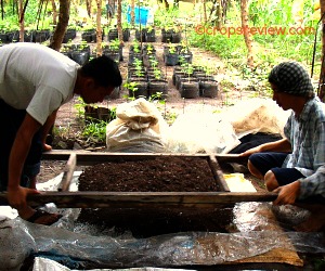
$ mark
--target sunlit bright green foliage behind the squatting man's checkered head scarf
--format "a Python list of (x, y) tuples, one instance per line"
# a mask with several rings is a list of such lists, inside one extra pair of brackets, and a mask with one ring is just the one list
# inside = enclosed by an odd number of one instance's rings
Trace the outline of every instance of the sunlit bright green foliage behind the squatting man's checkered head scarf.
[[(313, 5), (308, 0), (301, 1), (301, 3), (302, 5), (294, 8), (294, 0), (250, 1), (249, 27), (257, 27), (260, 30), (260, 33), (252, 35), (253, 68), (247, 67), (246, 64), (247, 49), (243, 33), (232, 35), (229, 33), (230, 27), (242, 26), (242, 22), (238, 20), (240, 18), (238, 2), (229, 9), (229, 21), (223, 29), (217, 29), (209, 24), (196, 26), (188, 33), (188, 39), (192, 46), (216, 53), (225, 62), (227, 68), (233, 66), (239, 70), (239, 76), (250, 81), (249, 89), (256, 90), (257, 95), (270, 95), (266, 78), (273, 65), (284, 60), (311, 64), (315, 30), (318, 31), (315, 63), (318, 65), (321, 63), (322, 35), (321, 29), (316, 29), (317, 22), (313, 16)], [(297, 10), (301, 10), (301, 14)], [(296, 22), (299, 14), (303, 18), (302, 22)], [(273, 34), (264, 30), (271, 27), (275, 28)], [(290, 27), (292, 27), (292, 33), (289, 33)], [(320, 66), (315, 67), (315, 74), (317, 74), (317, 69)]]

